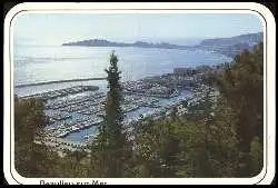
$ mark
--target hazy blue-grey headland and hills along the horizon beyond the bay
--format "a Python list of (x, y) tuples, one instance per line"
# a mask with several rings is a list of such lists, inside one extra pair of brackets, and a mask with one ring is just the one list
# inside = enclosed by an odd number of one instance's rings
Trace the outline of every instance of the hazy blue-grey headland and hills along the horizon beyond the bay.
[(162, 48), (162, 49), (183, 49), (183, 50), (202, 49), (202, 50), (216, 51), (218, 53), (234, 58), (237, 53), (241, 52), (245, 49), (250, 50), (255, 44), (259, 43), (262, 40), (264, 40), (262, 32), (258, 32), (258, 33), (236, 36), (231, 38), (206, 39), (196, 46), (171, 44), (167, 42), (152, 43), (145, 41), (125, 43), (125, 42), (112, 42), (102, 39), (90, 39), (76, 42), (68, 42), (68, 43), (62, 43), (62, 46), (138, 47), (138, 48)]

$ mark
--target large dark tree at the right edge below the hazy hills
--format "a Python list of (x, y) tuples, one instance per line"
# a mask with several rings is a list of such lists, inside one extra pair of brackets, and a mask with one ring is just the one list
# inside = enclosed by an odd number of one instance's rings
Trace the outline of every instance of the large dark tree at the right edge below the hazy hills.
[(239, 177), (252, 174), (250, 167), (250, 144), (255, 137), (264, 142), (264, 46), (255, 46), (236, 56), (226, 65), (225, 73), (217, 79), (227, 106), (234, 110), (234, 123), (238, 137), (240, 161)]

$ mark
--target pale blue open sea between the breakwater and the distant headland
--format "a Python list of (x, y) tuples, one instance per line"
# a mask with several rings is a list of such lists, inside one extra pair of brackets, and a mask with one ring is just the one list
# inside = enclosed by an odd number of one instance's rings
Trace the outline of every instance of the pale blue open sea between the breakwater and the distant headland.
[(109, 66), (109, 56), (112, 50), (119, 58), (118, 65), (122, 72), (122, 81), (169, 73), (173, 68), (231, 61), (226, 56), (202, 50), (16, 46), (14, 85), (106, 77), (105, 69)]

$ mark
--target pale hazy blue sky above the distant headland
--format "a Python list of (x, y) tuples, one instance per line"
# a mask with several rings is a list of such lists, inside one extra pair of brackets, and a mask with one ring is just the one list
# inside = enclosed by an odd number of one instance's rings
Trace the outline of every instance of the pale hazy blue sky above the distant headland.
[(198, 41), (262, 31), (251, 13), (26, 13), (13, 20), (16, 44), (111, 41)]

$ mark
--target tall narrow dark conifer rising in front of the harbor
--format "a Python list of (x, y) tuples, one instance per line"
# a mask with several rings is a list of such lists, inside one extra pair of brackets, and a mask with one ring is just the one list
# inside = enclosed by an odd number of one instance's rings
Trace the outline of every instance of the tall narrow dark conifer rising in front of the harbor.
[(105, 122), (100, 127), (98, 146), (101, 150), (102, 161), (100, 164), (109, 178), (121, 177), (123, 150), (127, 141), (122, 127), (120, 71), (117, 63), (118, 57), (112, 51), (110, 67), (106, 69), (109, 90), (107, 92)]

